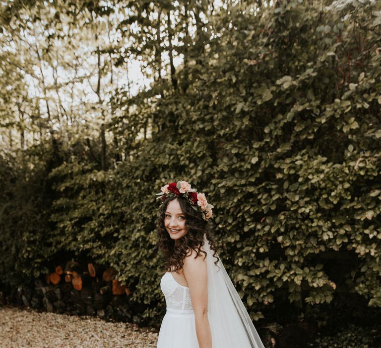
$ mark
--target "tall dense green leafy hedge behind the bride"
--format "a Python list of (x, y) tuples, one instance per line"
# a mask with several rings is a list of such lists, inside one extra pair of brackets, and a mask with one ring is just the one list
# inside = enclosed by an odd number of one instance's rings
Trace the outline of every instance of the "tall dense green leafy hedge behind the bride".
[(157, 322), (155, 193), (184, 179), (216, 207), (220, 256), (254, 320), (284, 303), (313, 316), (342, 292), (380, 307), (380, 2), (233, 5), (210, 24), (176, 85), (116, 90), (107, 171), (78, 139), (58, 142), (54, 169), (6, 175), (17, 187), (1, 196), (1, 278), (45, 272), (63, 251), (94, 259)]

